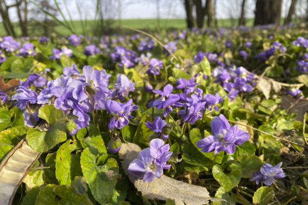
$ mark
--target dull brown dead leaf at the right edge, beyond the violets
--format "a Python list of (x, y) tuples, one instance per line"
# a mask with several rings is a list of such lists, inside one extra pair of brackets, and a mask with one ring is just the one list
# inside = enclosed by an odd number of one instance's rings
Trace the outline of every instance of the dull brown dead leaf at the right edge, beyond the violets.
[(297, 113), (296, 120), (303, 121), (305, 112), (308, 111), (307, 99), (295, 99), (293, 97), (282, 95), (281, 108), (288, 109), (290, 113)]

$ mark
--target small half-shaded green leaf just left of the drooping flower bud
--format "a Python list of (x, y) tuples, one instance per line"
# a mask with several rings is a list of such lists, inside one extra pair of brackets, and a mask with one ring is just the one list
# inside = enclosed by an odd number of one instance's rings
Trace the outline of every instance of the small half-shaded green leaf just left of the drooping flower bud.
[(105, 147), (104, 140), (100, 134), (100, 131), (93, 124), (87, 128), (89, 136), (84, 138), (84, 145), (87, 147), (93, 147), (99, 151), (100, 154), (106, 154), (107, 150)]

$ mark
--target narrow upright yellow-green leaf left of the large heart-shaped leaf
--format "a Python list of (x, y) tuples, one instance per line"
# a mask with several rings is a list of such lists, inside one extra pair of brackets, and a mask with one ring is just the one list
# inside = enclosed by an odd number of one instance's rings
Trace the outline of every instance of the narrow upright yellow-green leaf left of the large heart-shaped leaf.
[(56, 152), (55, 176), (60, 185), (70, 185), (73, 176), (71, 175), (71, 152), (80, 149), (77, 141), (67, 140)]

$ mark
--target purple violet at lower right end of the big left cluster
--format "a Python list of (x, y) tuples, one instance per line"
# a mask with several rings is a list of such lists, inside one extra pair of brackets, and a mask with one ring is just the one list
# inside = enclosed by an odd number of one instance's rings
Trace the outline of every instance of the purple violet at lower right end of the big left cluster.
[(114, 127), (121, 129), (128, 125), (128, 119), (133, 118), (130, 113), (138, 109), (138, 106), (131, 105), (132, 99), (129, 99), (126, 103), (118, 103), (113, 100), (107, 100), (105, 108), (109, 114), (113, 117), (110, 119), (108, 128), (113, 130)]

